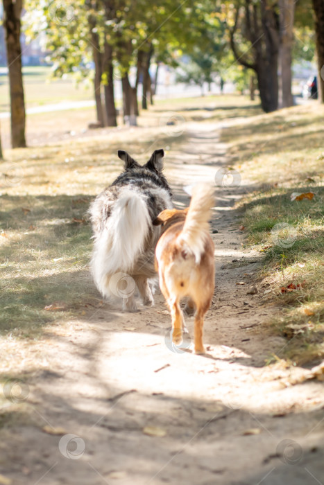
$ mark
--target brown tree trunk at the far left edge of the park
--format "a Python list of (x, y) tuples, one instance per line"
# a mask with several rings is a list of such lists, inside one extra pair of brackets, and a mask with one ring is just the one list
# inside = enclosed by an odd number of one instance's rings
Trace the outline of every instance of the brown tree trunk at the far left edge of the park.
[(12, 148), (19, 148), (26, 146), (26, 114), (22, 82), (22, 48), (20, 45), (22, 0), (3, 0), (3, 12), (10, 85), (11, 143)]

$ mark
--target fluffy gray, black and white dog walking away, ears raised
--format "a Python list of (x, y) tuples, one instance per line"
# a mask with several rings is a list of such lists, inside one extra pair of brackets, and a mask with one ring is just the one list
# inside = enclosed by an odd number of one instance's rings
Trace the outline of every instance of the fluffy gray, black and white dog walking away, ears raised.
[[(148, 280), (156, 276), (154, 252), (160, 227), (152, 222), (171, 209), (171, 189), (162, 174), (163, 150), (155, 150), (141, 166), (118, 151), (124, 171), (101, 192), (89, 208), (94, 232), (91, 269), (103, 297), (123, 297), (123, 309), (136, 311), (135, 285), (145, 305), (153, 305)], [(130, 290), (120, 290), (121, 280)], [(130, 281), (129, 281), (130, 280)]]

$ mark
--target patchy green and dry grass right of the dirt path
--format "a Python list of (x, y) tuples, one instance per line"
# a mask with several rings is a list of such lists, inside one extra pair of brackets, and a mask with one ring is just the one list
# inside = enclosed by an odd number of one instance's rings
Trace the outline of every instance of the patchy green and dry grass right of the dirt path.
[[(223, 132), (250, 186), (238, 206), (246, 245), (264, 254), (264, 300), (280, 310), (270, 323), (288, 340), (278, 357), (298, 364), (324, 356), (323, 112), (317, 104), (293, 107)], [(292, 201), (293, 192), (315, 196)]]

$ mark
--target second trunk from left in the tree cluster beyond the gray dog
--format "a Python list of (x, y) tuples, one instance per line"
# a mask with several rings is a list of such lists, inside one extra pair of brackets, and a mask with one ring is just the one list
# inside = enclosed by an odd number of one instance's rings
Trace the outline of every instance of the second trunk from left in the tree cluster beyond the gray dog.
[(114, 68), (112, 66), (112, 46), (105, 41), (103, 53), (103, 76), (105, 78), (105, 114), (107, 126), (117, 126), (116, 107), (114, 105)]

